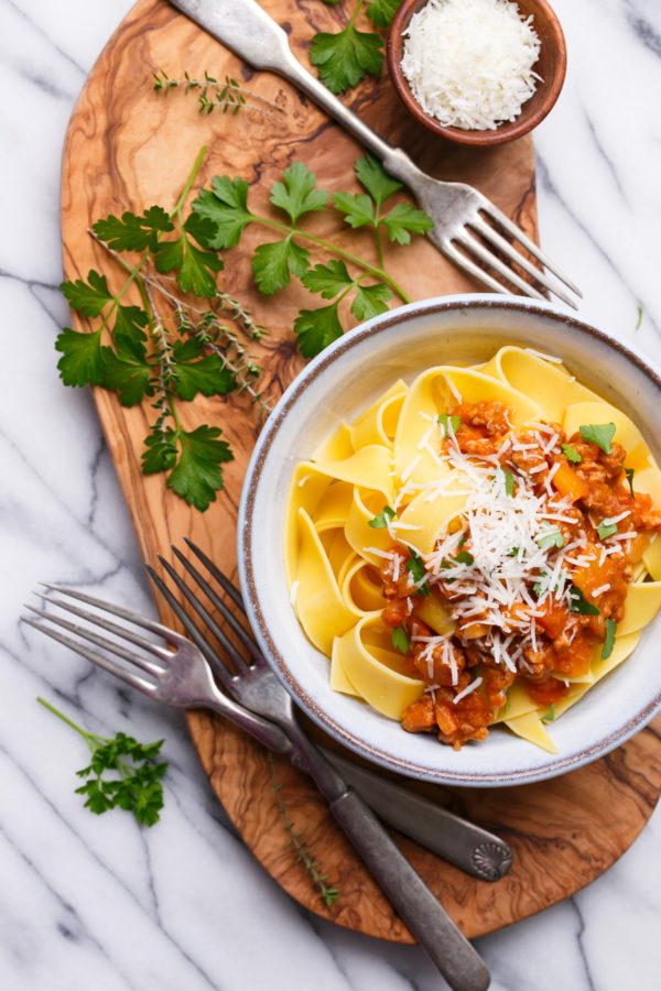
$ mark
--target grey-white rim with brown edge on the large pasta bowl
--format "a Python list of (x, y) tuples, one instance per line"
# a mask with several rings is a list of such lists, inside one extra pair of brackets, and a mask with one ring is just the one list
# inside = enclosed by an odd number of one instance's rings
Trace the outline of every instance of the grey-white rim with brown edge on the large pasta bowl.
[(302, 689), (301, 685), (289, 669), (268, 624), (264, 622), (254, 580), (254, 567), (249, 536), (256, 491), (259, 486), (267, 451), (299, 396), (305, 391), (310, 382), (314, 381), (314, 379), (316, 379), (329, 364), (333, 364), (337, 356), (351, 349), (357, 341), (362, 340), (365, 337), (375, 337), (380, 331), (403, 320), (414, 318), (418, 315), (445, 313), (458, 308), (477, 308), (481, 311), (510, 309), (519, 313), (525, 312), (539, 316), (552, 317), (555, 320), (564, 323), (567, 327), (575, 328), (579, 333), (605, 342), (616, 351), (619, 351), (620, 355), (625, 356), (628, 361), (633, 363), (651, 382), (653, 382), (659, 390), (659, 395), (661, 398), (661, 377), (642, 358), (622, 345), (617, 338), (605, 334), (603, 330), (598, 330), (590, 324), (586, 324), (583, 320), (578, 320), (568, 314), (555, 309), (551, 304), (539, 305), (530, 303), (527, 298), (519, 298), (516, 296), (483, 294), (442, 296), (434, 300), (426, 300), (421, 303), (412, 303), (399, 307), (398, 309), (390, 311), (388, 314), (383, 314), (380, 317), (376, 317), (354, 328), (317, 356), (317, 358), (315, 358), (294, 379), (267, 421), (248, 465), (239, 505), (237, 560), (240, 585), (252, 630), (267, 662), (303, 711), (337, 741), (389, 771), (394, 771), (408, 777), (432, 781), (437, 784), (459, 785), (465, 787), (500, 787), (516, 784), (531, 784), (537, 781), (555, 777), (559, 774), (583, 766), (625, 743), (661, 710), (661, 695), (648, 703), (644, 708), (640, 709), (616, 731), (595, 740), (590, 747), (584, 748), (564, 759), (552, 756), (546, 764), (542, 764), (533, 770), (513, 770), (507, 774), (500, 772), (484, 772), (466, 775), (448, 772), (446, 770), (435, 771), (431, 767), (421, 767), (408, 760), (399, 759), (391, 754), (384, 754), (377, 747), (371, 745), (359, 737), (355, 737), (345, 726), (342, 726), (329, 718), (327, 712), (325, 712), (324, 709)]

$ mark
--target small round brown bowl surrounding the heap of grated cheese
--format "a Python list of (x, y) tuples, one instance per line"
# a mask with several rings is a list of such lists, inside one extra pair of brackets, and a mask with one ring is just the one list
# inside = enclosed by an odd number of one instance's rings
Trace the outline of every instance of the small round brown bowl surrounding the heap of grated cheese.
[(534, 94), (523, 104), (521, 112), (513, 121), (508, 121), (488, 131), (470, 131), (462, 128), (444, 127), (436, 118), (425, 113), (415, 100), (401, 68), (404, 54), (403, 33), (413, 14), (427, 0), (403, 0), (388, 35), (388, 68), (394, 88), (405, 108), (430, 131), (459, 144), (489, 146), (521, 138), (535, 128), (553, 107), (564, 83), (567, 52), (560, 21), (546, 0), (518, 0), (517, 6), (524, 17), (533, 17), (533, 28), (541, 42), (540, 55), (533, 69), (543, 79), (538, 83)]

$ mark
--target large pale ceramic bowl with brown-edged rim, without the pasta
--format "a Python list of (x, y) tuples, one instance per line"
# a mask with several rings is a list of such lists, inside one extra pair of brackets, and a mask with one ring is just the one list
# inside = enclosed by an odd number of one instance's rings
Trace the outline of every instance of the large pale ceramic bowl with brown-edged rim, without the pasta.
[(304, 711), (356, 753), (391, 771), (444, 784), (522, 784), (607, 753), (661, 710), (661, 613), (636, 652), (553, 726), (557, 754), (502, 727), (460, 751), (410, 734), (356, 698), (332, 691), (328, 660), (307, 641), (289, 600), (283, 521), (294, 466), (343, 420), (354, 420), (398, 378), (486, 361), (505, 344), (561, 357), (566, 368), (631, 416), (661, 456), (661, 373), (602, 330), (551, 304), (496, 295), (443, 296), (356, 327), (314, 359), (267, 421), (241, 496), (238, 559), (250, 621), (269, 664)]

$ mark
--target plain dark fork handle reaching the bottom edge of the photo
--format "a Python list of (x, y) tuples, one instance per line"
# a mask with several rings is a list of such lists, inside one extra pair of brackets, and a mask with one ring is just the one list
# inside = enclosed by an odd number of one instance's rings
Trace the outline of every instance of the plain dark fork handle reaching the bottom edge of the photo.
[(485, 991), (484, 961), (392, 842), (371, 809), (347, 791), (330, 810), (418, 943), (454, 991)]

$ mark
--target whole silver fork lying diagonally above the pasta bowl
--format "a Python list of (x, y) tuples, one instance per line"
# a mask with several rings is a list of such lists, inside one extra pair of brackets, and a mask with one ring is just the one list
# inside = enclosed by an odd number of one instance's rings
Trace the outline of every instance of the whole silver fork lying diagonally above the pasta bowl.
[(387, 171), (416, 196), (434, 221), (427, 237), (456, 265), (494, 292), (511, 293), (513, 286), (524, 296), (544, 300), (535, 286), (514, 271), (512, 265), (518, 265), (545, 290), (577, 308), (556, 281), (507, 240), (506, 235), (572, 293), (581, 296), (577, 286), (520, 227), (473, 186), (432, 178), (402, 149), (392, 148), (372, 131), (301, 65), (290, 50), (285, 32), (256, 0), (171, 0), (171, 3), (254, 68), (271, 69), (284, 76), (378, 155)]

